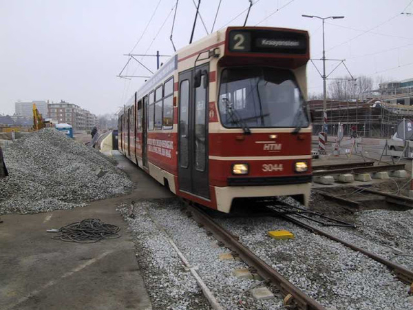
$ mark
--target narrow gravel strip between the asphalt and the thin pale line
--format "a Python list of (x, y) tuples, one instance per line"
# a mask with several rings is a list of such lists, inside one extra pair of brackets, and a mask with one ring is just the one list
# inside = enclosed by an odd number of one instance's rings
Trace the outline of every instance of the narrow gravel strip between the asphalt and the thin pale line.
[(134, 236), (136, 258), (152, 309), (211, 309), (195, 278), (184, 270), (167, 237), (147, 214), (145, 207), (152, 204), (139, 202), (134, 208), (134, 218), (129, 217), (129, 205), (119, 207)]

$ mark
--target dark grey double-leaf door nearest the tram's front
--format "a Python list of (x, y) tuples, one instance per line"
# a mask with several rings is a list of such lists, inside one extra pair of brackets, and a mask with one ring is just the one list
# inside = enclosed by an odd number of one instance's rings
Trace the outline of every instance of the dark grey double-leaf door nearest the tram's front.
[[(201, 70), (201, 84), (193, 76)], [(208, 91), (209, 67), (179, 75), (178, 181), (180, 190), (209, 198)]]

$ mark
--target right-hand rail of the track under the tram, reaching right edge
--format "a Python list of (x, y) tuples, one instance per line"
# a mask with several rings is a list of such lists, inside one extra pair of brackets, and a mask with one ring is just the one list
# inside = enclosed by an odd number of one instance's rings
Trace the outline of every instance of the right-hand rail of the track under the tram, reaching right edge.
[(290, 221), (291, 223), (294, 223), (295, 225), (298, 225), (299, 227), (308, 229), (309, 231), (315, 234), (319, 234), (320, 236), (325, 236), (333, 241), (336, 241), (336, 242), (341, 243), (342, 245), (345, 245), (346, 247), (350, 247), (350, 249), (354, 251), (359, 251), (360, 253), (372, 258), (373, 260), (376, 260), (377, 262), (380, 262), (381, 264), (388, 267), (390, 270), (394, 271), (397, 278), (399, 278), (401, 281), (407, 283), (408, 285), (413, 283), (413, 271), (406, 269), (405, 267), (399, 264), (396, 264), (395, 262), (387, 260), (377, 254), (367, 251), (366, 249), (358, 247), (357, 245), (354, 245), (350, 242), (337, 238), (336, 236), (332, 236), (332, 234), (328, 234), (326, 231), (322, 231), (321, 229), (318, 229), (317, 227), (301, 222), (301, 220), (297, 220), (297, 218), (293, 218), (291, 216), (286, 216), (286, 215), (283, 215), (282, 218), (285, 218), (286, 220)]

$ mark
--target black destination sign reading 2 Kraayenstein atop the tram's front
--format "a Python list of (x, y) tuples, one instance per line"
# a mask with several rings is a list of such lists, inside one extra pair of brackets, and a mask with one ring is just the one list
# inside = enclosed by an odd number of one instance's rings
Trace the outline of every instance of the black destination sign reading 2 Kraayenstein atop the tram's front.
[(231, 30), (231, 52), (305, 54), (308, 39), (302, 32), (279, 30)]

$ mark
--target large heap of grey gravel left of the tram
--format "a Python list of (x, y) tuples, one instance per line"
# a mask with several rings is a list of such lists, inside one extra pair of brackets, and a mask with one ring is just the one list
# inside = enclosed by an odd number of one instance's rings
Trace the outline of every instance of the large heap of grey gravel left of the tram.
[(0, 179), (0, 214), (71, 209), (134, 186), (103, 154), (51, 128), (19, 139), (4, 158), (10, 176)]

